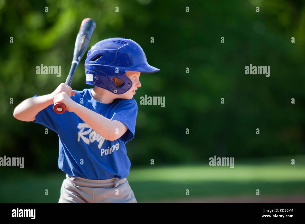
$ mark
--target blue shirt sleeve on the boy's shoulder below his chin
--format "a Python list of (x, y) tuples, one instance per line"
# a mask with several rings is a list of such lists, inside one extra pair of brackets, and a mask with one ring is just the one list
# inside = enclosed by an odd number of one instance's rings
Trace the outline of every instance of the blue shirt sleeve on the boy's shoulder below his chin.
[(128, 128), (127, 131), (120, 137), (120, 140), (127, 142), (135, 137), (135, 123), (137, 114), (137, 102), (127, 100), (113, 115), (112, 120), (120, 121)]

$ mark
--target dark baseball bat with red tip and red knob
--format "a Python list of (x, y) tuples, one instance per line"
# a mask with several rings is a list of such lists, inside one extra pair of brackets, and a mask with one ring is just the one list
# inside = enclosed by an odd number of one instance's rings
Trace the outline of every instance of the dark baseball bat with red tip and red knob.
[[(65, 82), (65, 84), (68, 86), (71, 86), (72, 84), (75, 70), (89, 46), (92, 34), (95, 30), (95, 26), (95, 22), (90, 18), (86, 18), (81, 22), (81, 27), (79, 28), (75, 41), (73, 60), (70, 72)], [(66, 111), (66, 106), (63, 103), (56, 103), (54, 104), (53, 109), (56, 113), (63, 114)]]

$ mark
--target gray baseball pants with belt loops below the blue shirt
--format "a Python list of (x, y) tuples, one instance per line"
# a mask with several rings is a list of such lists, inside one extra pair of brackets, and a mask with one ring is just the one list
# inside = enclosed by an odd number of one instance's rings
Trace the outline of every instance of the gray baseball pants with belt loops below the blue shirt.
[(58, 203), (137, 203), (127, 178), (89, 180), (66, 174)]

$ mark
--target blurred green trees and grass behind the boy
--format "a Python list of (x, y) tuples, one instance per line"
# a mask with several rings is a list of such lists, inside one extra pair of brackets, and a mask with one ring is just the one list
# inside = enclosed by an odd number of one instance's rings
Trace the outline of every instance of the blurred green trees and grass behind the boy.
[[(58, 202), (65, 178), (58, 136), (15, 119), (13, 110), (65, 82), (88, 17), (97, 24), (89, 48), (109, 37), (130, 38), (160, 69), (140, 77), (135, 138), (126, 144), (127, 179), (138, 202), (250, 197), (256, 189), (257, 197), (304, 195), (304, 6), (288, 0), (0, 0), (0, 157), (25, 158), (24, 169), (0, 166), (0, 202)], [(92, 87), (85, 84), (86, 55), (75, 90)], [(62, 75), (37, 75), (41, 64), (61, 66)], [(270, 77), (246, 75), (250, 64), (270, 66)], [(165, 96), (165, 107), (140, 105), (145, 94)], [(209, 166), (214, 155), (234, 157), (235, 168)]]

